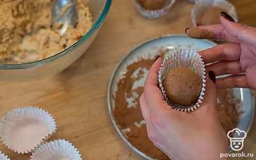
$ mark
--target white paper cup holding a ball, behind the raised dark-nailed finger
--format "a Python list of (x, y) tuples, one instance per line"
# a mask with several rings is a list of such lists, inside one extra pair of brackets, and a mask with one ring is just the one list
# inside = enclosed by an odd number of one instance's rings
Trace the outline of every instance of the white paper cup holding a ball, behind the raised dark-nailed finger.
[(225, 0), (198, 0), (191, 9), (191, 19), (193, 25), (196, 27), (198, 20), (206, 12), (206, 10), (212, 6), (223, 8), (227, 13), (238, 22), (236, 15), (236, 8), (233, 4)]

